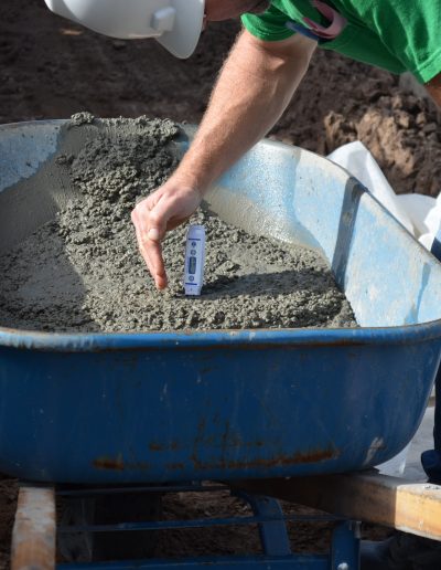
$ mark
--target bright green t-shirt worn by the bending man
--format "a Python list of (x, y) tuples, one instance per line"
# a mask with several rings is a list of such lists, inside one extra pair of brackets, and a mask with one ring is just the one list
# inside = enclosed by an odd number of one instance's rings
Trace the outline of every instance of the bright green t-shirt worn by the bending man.
[[(411, 72), (427, 83), (441, 72), (441, 0), (332, 0), (347, 20), (334, 40), (320, 43), (364, 63), (392, 73)], [(303, 18), (329, 25), (311, 0), (272, 0), (260, 15), (245, 14), (245, 28), (266, 41), (284, 40), (293, 31), (287, 21)]]

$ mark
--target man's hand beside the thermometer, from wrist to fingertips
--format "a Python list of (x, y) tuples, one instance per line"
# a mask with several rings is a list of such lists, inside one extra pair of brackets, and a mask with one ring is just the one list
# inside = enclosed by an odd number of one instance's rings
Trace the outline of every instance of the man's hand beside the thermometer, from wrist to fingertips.
[(166, 273), (161, 240), (195, 212), (201, 193), (189, 184), (170, 179), (155, 192), (139, 202), (131, 213), (139, 250), (158, 289), (166, 287)]

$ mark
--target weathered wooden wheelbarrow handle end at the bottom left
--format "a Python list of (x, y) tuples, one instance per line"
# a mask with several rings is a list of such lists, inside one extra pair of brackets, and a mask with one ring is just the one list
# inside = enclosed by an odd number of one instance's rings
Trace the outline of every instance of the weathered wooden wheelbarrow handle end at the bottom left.
[(12, 531), (12, 570), (55, 568), (55, 490), (24, 485), (20, 488)]

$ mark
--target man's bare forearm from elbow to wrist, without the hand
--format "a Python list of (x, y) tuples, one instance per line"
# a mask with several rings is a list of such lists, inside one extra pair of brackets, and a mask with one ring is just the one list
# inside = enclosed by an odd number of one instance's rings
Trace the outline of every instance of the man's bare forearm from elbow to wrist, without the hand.
[(268, 44), (243, 32), (175, 178), (202, 193), (275, 125), (308, 70), (315, 43)]

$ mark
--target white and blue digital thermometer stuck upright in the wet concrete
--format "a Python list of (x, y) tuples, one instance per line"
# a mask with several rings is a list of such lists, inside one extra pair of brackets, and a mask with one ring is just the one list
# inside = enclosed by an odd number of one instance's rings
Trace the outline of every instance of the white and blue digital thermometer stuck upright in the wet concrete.
[(204, 281), (204, 262), (205, 228), (203, 225), (190, 225), (185, 244), (185, 295), (201, 295)]

